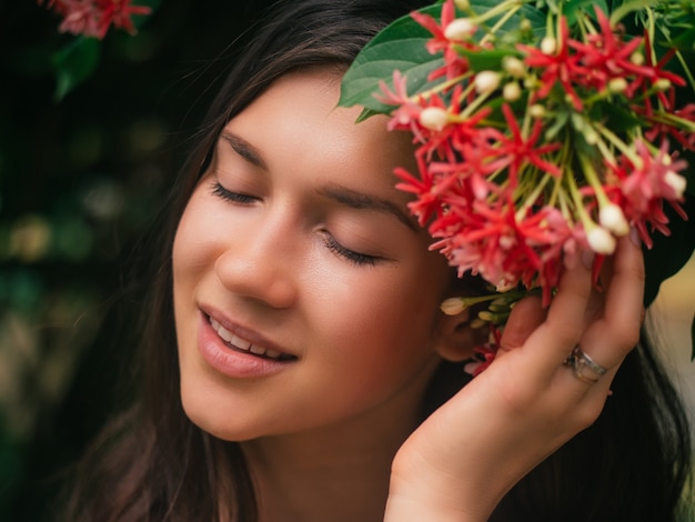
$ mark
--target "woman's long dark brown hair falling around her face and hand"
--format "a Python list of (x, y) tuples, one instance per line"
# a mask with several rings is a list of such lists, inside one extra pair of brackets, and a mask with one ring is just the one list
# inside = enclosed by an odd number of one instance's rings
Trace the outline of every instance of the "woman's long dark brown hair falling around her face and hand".
[[(288, 0), (235, 60), (195, 135), (165, 205), (161, 260), (143, 328), (137, 401), (102, 432), (78, 469), (66, 520), (255, 521), (253, 486), (235, 443), (193, 425), (181, 406), (172, 310), (178, 221), (223, 126), (278, 78), (312, 67), (344, 70), (386, 23), (430, 2)], [(431, 408), (464, 384), (443, 364)], [(436, 389), (436, 390), (435, 390)], [(601, 419), (523, 480), (496, 520), (659, 520), (675, 516), (689, 464), (677, 394), (648, 347), (621, 369)], [(474, 420), (472, 420), (474, 422)]]

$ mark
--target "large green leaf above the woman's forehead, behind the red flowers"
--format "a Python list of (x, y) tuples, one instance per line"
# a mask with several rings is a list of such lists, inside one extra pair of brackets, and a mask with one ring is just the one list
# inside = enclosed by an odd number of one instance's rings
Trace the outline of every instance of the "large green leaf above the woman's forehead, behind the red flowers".
[[(471, 9), (476, 13), (483, 13), (497, 3), (496, 0), (472, 0)], [(435, 4), (421, 9), (420, 12), (439, 20), (441, 9), (440, 4)], [(498, 29), (497, 38), (503, 39), (506, 32), (517, 30), (522, 19), (531, 22), (537, 38), (545, 33), (545, 14), (532, 6), (524, 6)], [(493, 19), (487, 23), (494, 22)], [(426, 50), (426, 43), (431, 38), (430, 31), (410, 14), (389, 24), (364, 47), (345, 73), (339, 106), (362, 106), (367, 110), (363, 114), (389, 113), (393, 108), (381, 103), (374, 94), (380, 92), (381, 82), (393, 88), (395, 70), (406, 77), (409, 93), (434, 87), (435, 83), (430, 82), (427, 78), (433, 70), (444, 64), (444, 59), (441, 53), (433, 56)], [(502, 60), (502, 56), (501, 51), (466, 53), (473, 62), (471, 66), (473, 70), (493, 69)]]

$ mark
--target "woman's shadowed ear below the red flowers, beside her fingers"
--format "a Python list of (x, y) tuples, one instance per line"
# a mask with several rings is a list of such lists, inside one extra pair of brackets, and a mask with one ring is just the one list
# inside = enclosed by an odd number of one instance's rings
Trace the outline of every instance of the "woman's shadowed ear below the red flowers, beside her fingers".
[(442, 313), (439, 318), (435, 350), (443, 359), (451, 362), (471, 359), (473, 349), (487, 340), (486, 328), (471, 327), (471, 314), (466, 309), (455, 315)]

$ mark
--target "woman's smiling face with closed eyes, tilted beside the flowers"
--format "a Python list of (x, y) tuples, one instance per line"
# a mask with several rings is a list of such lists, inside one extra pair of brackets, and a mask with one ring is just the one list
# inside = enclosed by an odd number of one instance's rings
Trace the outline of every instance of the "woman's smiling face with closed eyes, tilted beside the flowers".
[(183, 406), (226, 440), (417, 408), (451, 271), (394, 189), (410, 138), (355, 124), (332, 72), (289, 74), (224, 128), (173, 249)]

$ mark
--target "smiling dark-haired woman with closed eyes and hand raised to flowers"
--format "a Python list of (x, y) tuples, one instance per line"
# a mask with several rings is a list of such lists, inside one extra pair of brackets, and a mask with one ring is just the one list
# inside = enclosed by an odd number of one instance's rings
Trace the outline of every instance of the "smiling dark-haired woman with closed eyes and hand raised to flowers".
[[(636, 241), (605, 293), (578, 264), (548, 310), (522, 301), (459, 391), (479, 333), (439, 304), (475, 283), (393, 188), (409, 137), (335, 108), (359, 50), (420, 3), (288, 1), (235, 63), (167, 209), (140, 400), (85, 459), (69, 520), (676, 516), (689, 438), (647, 347), (631, 352)], [(577, 345), (601, 367), (563, 364)]]

